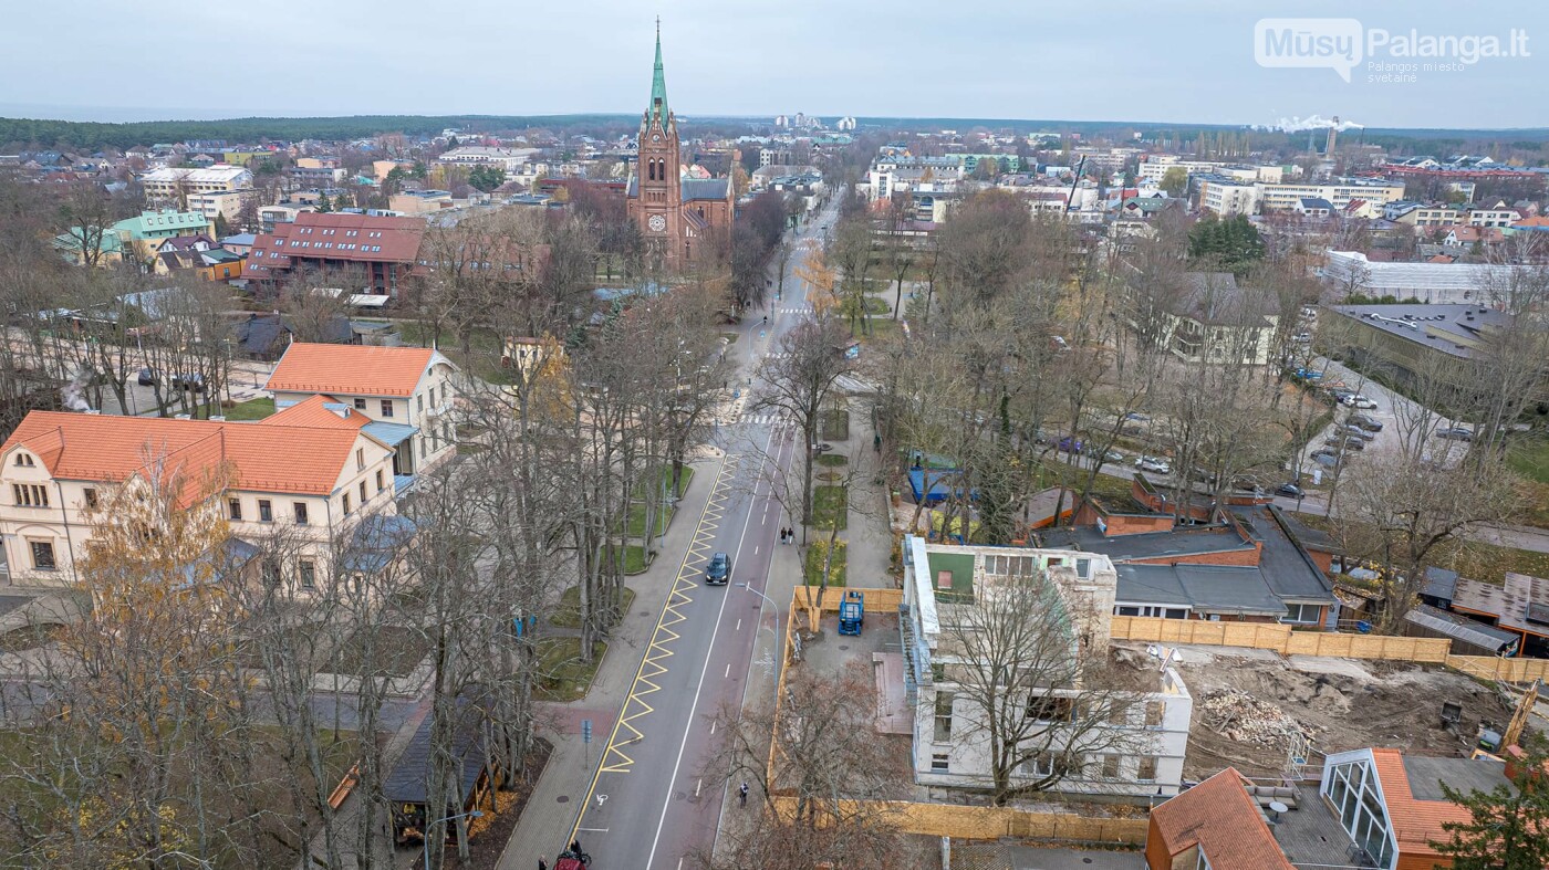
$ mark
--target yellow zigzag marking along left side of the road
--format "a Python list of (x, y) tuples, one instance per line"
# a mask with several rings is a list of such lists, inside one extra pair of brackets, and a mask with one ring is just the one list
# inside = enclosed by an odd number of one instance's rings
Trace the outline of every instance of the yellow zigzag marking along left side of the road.
[[(635, 720), (655, 712), (655, 707), (646, 701), (646, 697), (661, 690), (661, 686), (655, 680), (668, 672), (665, 663), (672, 656), (668, 644), (682, 638), (680, 633), (672, 630), (672, 625), (688, 619), (678, 611), (678, 607), (694, 601), (688, 593), (697, 588), (699, 584), (694, 582), (694, 577), (699, 574), (699, 565), (709, 556), (711, 542), (716, 540), (714, 533), (720, 528), (720, 519), (726, 515), (726, 503), (731, 498), (726, 472), (736, 469), (736, 466), (737, 457), (728, 454), (720, 471), (716, 474), (716, 483), (711, 486), (709, 498), (705, 502), (705, 511), (694, 528), (694, 536), (689, 540), (688, 553), (683, 556), (683, 563), (678, 567), (678, 574), (672, 581), (672, 591), (668, 593), (668, 601), (661, 607), (661, 616), (657, 619), (657, 629), (651, 633), (651, 642), (646, 644), (646, 655), (640, 661), (635, 683), (629, 687), (629, 697), (624, 700), (624, 709), (620, 711), (618, 723), (613, 724), (613, 735), (603, 752), (598, 776), (627, 774), (635, 766), (635, 759), (624, 751), (624, 746), (646, 737), (643, 731), (635, 728)], [(692, 570), (689, 565), (692, 565)], [(596, 788), (595, 779), (592, 788)], [(579, 825), (579, 820), (576, 824)]]

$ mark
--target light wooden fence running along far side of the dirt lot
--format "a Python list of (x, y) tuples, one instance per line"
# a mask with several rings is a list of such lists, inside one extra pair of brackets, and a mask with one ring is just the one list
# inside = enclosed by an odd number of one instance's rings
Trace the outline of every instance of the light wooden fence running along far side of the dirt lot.
[(1279, 655), (1420, 661), (1445, 664), (1478, 680), (1499, 683), (1549, 680), (1549, 659), (1451, 655), (1451, 641), (1447, 638), (1335, 635), (1331, 632), (1293, 632), (1290, 625), (1276, 622), (1207, 622), (1154, 616), (1114, 616), (1112, 636), (1115, 641), (1247, 647), (1273, 650)]

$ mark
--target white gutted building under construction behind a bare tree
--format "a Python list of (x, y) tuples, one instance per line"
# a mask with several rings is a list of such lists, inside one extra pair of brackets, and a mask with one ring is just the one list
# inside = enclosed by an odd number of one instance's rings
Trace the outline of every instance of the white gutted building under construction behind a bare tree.
[[(974, 666), (963, 649), (963, 632), (973, 630), (963, 625), (974, 625), (965, 608), (976, 607), (979, 596), (994, 596), (998, 584), (1038, 577), (1049, 593), (1039, 615), (1046, 630), (1063, 632), (1072, 656), (1109, 656), (1117, 571), (1106, 556), (1077, 550), (946, 546), (915, 536), (903, 540), (903, 565), (900, 633), (905, 698), (914, 706), (914, 780), (934, 793), (984, 790), (993, 771), (988, 735), (977, 724), (985, 717), (979, 709), (984, 695), (963, 690), (968, 676), (962, 669)], [(1111, 687), (1050, 686), (1015, 698), (1011, 703), (1024, 704), (1027, 717), (1036, 720), (1029, 740), (1049, 748), (1019, 766), (1015, 779), (1039, 780), (1058, 765), (1066, 772), (1053, 791), (1066, 794), (1177, 794), (1193, 698), (1174, 669), (1156, 664), (1134, 673), (1139, 680), (1126, 683), (1121, 704), (1104, 706), (1100, 734), (1080, 737), (1080, 746), (1090, 751), (1078, 749), (1075, 738), (1066, 743), (1072, 711), (1081, 707), (1083, 697), (1090, 700)], [(1018, 678), (1008, 680), (1015, 684)]]

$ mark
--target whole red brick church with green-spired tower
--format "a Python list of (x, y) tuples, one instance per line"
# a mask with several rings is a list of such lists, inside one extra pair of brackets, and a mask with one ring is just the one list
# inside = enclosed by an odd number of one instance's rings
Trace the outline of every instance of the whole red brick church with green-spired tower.
[(629, 217), (646, 249), (668, 271), (709, 255), (711, 238), (731, 231), (736, 190), (730, 178), (683, 178), (677, 116), (668, 108), (661, 71), (661, 25), (657, 25), (657, 67), (651, 105), (640, 121), (638, 159), (629, 176)]

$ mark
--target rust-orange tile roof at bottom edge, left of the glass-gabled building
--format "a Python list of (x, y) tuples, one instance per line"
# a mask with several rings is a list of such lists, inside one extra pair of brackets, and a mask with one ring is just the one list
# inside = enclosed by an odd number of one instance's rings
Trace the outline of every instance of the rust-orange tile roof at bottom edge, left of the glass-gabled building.
[(1210, 865), (1222, 870), (1293, 870), (1235, 768), (1151, 810), (1151, 824), (1168, 855), (1197, 844)]

